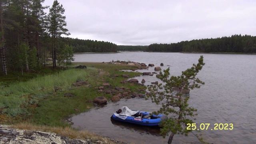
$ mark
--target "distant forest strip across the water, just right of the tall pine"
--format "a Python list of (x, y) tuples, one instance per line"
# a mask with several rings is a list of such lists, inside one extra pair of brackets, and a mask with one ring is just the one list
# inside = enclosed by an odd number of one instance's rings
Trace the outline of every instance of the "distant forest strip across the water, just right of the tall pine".
[(62, 42), (73, 47), (74, 52), (116, 52), (117, 45), (112, 42), (81, 40), (78, 38), (60, 38)]

